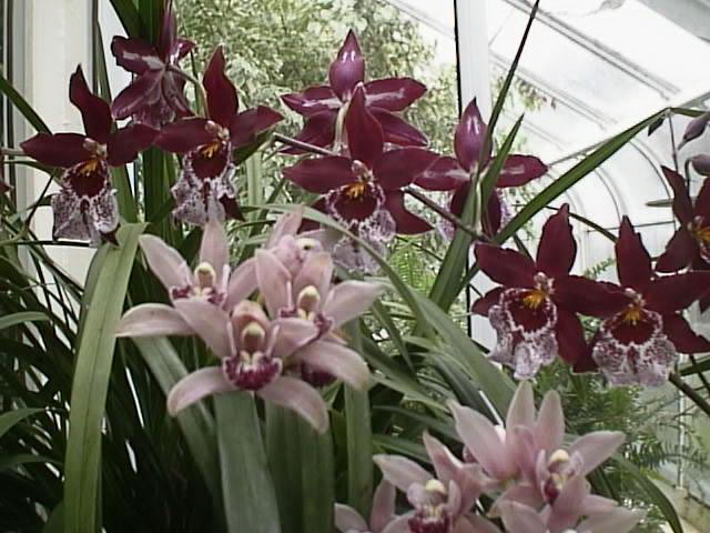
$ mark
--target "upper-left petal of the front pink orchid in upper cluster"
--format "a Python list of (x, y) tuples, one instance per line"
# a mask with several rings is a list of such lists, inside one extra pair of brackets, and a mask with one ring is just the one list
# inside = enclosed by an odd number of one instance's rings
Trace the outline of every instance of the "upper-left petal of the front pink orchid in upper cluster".
[(217, 358), (232, 355), (230, 318), (224, 311), (207, 301), (192, 298), (176, 300), (173, 305)]

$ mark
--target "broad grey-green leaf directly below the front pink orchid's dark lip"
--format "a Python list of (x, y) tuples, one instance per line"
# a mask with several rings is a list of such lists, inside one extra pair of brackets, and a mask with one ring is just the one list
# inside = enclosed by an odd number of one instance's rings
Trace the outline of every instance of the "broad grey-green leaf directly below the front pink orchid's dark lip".
[(280, 533), (276, 493), (268, 472), (254, 398), (246, 392), (217, 394), (214, 408), (229, 531)]

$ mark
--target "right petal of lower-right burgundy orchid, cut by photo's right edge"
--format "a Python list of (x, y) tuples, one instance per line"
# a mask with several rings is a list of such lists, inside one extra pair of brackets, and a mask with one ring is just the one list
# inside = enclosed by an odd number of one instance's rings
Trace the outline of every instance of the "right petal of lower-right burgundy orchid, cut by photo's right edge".
[(661, 314), (689, 308), (710, 286), (710, 271), (672, 274), (651, 281), (643, 294), (648, 309)]

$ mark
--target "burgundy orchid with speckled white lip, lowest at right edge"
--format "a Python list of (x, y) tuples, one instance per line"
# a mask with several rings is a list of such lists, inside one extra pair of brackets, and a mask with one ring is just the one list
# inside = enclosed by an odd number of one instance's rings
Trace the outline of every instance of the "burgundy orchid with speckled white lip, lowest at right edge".
[(655, 276), (651, 257), (626, 217), (616, 255), (621, 284), (616, 292), (626, 303), (601, 322), (590, 354), (577, 370), (597, 365), (612, 384), (661, 385), (678, 352), (710, 351), (710, 342), (680, 314), (707, 291), (710, 272)]

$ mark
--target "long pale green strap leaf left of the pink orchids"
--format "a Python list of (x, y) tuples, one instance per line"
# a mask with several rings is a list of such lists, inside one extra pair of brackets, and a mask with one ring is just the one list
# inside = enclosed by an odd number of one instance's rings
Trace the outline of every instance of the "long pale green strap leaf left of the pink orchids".
[[(138, 238), (145, 224), (130, 224), (118, 232), (119, 247), (98, 255), (95, 289), (85, 302), (85, 321), (79, 341), (71, 391), (69, 443), (64, 462), (64, 532), (99, 531), (101, 421), (103, 419), (115, 325), (121, 316)], [(109, 247), (110, 244), (106, 244)]]

